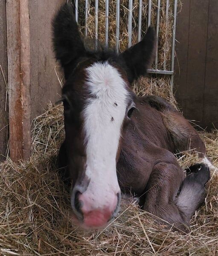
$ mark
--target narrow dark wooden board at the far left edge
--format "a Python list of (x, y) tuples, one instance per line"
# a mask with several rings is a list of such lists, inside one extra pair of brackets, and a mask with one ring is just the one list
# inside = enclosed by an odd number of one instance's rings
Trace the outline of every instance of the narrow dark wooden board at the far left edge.
[[(6, 43), (6, 1), (0, 0), (0, 161), (4, 159), (8, 137), (8, 110), (6, 101), (7, 43)], [(5, 78), (5, 79), (4, 79)]]

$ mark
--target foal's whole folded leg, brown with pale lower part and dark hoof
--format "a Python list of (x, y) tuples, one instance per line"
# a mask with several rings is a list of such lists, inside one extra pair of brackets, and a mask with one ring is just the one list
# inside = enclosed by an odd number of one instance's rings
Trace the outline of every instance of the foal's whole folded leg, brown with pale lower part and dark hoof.
[(189, 221), (205, 198), (205, 184), (209, 180), (208, 166), (203, 163), (184, 173), (177, 160), (158, 162), (154, 166), (145, 189), (143, 209), (173, 229), (187, 233)]

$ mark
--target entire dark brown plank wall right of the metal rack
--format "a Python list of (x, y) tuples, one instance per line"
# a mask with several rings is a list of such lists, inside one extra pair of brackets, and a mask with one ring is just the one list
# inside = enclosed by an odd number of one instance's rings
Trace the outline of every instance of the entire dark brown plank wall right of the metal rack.
[(175, 86), (183, 115), (218, 128), (218, 0), (182, 0), (177, 16)]

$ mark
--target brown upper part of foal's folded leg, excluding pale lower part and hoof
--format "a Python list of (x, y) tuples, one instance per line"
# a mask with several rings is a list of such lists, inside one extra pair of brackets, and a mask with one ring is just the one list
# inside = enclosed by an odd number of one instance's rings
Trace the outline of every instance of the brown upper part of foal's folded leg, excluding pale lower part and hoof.
[(189, 231), (189, 221), (175, 204), (177, 192), (183, 182), (184, 173), (175, 163), (157, 163), (145, 188), (143, 209), (150, 212), (157, 221), (174, 226), (174, 230)]

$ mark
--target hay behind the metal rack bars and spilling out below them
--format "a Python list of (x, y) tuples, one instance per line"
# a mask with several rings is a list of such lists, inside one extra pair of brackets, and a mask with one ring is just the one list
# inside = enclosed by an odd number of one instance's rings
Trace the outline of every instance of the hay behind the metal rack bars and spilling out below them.
[[(74, 1), (72, 1), (74, 2)], [(85, 32), (85, 1), (79, 1), (78, 6), (78, 24), (80, 32)], [(142, 1), (142, 37), (147, 31), (148, 1)], [(151, 25), (157, 26), (157, 0), (152, 0), (151, 5)], [(128, 47), (128, 0), (120, 0), (120, 34), (119, 50), (122, 52)], [(138, 1), (133, 1), (133, 22), (132, 22), (132, 44), (137, 43), (138, 31)], [(161, 0), (160, 5), (160, 32), (158, 39), (158, 63), (157, 68), (163, 70), (164, 59), (166, 59), (166, 70), (171, 70), (171, 42), (173, 25), (174, 0), (169, 0), (168, 22), (166, 23), (166, 0)], [(181, 3), (178, 1), (178, 12), (181, 9)], [(105, 0), (99, 0), (99, 41), (105, 42)], [(89, 38), (95, 38), (95, 1), (90, 0), (88, 5), (87, 31)], [(109, 46), (116, 45), (116, 0), (110, 0), (109, 5)], [(154, 65), (153, 65), (154, 67)], [(155, 94), (164, 96), (171, 104), (176, 107), (174, 96), (171, 92), (170, 76), (149, 75), (147, 78), (140, 79), (134, 84), (134, 90), (137, 94), (144, 96)]]

